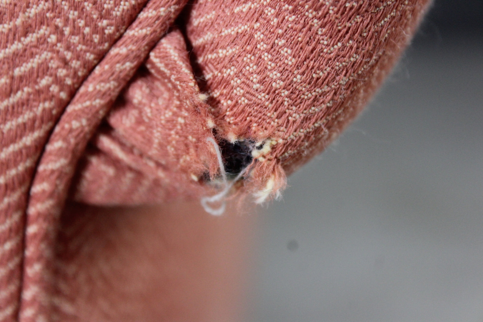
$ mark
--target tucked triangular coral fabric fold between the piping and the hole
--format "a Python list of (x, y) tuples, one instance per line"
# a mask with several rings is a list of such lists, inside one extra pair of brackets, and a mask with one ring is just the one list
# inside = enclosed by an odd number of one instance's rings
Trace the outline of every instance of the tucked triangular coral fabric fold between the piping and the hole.
[(173, 29), (150, 52), (91, 140), (73, 186), (75, 198), (143, 204), (206, 193), (203, 178), (213, 177), (218, 163), (206, 141), (213, 138), (213, 119), (205, 99), (183, 35)]

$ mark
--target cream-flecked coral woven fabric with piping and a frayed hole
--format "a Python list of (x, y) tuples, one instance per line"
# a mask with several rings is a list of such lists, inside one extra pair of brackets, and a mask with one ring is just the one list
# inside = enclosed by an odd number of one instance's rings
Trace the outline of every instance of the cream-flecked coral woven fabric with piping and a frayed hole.
[(75, 320), (52, 270), (68, 196), (216, 193), (209, 138), (252, 145), (232, 193), (276, 196), (361, 111), (428, 2), (0, 1), (0, 321)]

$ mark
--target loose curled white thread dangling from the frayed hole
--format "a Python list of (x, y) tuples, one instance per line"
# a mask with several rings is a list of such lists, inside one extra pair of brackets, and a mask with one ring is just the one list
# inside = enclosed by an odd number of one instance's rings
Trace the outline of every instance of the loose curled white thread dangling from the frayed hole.
[[(233, 179), (231, 182), (228, 182), (227, 179), (227, 172), (225, 171), (225, 166), (223, 165), (223, 159), (221, 157), (221, 151), (220, 147), (218, 146), (218, 143), (216, 143), (213, 138), (208, 138), (206, 139), (207, 142), (210, 142), (213, 144), (214, 150), (216, 151), (216, 157), (218, 158), (218, 165), (220, 167), (220, 174), (221, 174), (221, 179), (223, 183), (223, 189), (217, 193), (216, 195), (213, 196), (206, 196), (201, 198), (201, 206), (203, 206), (203, 209), (208, 212), (209, 214), (213, 216), (221, 216), (225, 212), (225, 208), (227, 206), (227, 203), (225, 200), (223, 200), (227, 195), (228, 192), (230, 191), (231, 187), (237, 182), (243, 173), (245, 172), (246, 168), (241, 170), (241, 172)], [(213, 203), (221, 201), (221, 206), (218, 208), (213, 208), (211, 207), (208, 203)]]

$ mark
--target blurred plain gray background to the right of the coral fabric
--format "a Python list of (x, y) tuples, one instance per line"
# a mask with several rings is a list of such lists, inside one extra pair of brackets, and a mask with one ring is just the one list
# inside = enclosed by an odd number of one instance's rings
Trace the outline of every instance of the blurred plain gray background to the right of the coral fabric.
[(483, 0), (436, 0), (384, 88), (289, 179), (254, 322), (483, 322)]

